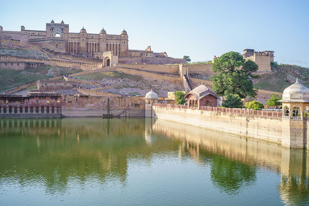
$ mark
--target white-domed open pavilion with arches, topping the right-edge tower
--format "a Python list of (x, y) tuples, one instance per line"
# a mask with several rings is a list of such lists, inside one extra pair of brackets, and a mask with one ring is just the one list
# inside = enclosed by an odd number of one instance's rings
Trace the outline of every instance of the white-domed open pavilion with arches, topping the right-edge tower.
[[(309, 88), (300, 84), (298, 78), (294, 84), (283, 91), (282, 99), (279, 102), (282, 102), (282, 116), (284, 118), (308, 119), (305, 113), (309, 111)], [(299, 109), (297, 114), (293, 112), (295, 109)]]

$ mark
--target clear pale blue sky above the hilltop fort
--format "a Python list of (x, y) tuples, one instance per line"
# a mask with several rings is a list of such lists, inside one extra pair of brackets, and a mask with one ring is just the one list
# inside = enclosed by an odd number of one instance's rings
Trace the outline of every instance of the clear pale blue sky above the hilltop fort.
[(129, 49), (166, 52), (192, 61), (229, 51), (274, 51), (274, 61), (309, 67), (309, 0), (304, 1), (3, 1), (5, 31), (45, 30), (46, 23), (84, 26), (88, 33), (128, 32)]

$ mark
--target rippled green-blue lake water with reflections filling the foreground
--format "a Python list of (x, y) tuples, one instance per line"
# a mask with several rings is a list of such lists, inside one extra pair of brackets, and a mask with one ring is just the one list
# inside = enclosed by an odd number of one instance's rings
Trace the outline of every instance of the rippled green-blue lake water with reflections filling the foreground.
[(0, 126), (0, 205), (309, 205), (304, 149), (155, 119)]

